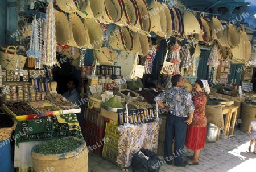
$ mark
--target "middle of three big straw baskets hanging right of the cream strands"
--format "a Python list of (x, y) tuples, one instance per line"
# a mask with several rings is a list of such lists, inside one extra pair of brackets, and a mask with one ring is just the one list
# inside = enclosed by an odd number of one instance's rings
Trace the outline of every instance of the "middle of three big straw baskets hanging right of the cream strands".
[(68, 42), (69, 46), (84, 47), (86, 44), (89, 43), (88, 31), (86, 31), (84, 24), (82, 23), (79, 16), (73, 13), (69, 14), (69, 25), (72, 31), (70, 40)]

